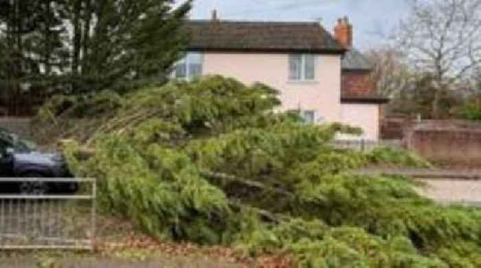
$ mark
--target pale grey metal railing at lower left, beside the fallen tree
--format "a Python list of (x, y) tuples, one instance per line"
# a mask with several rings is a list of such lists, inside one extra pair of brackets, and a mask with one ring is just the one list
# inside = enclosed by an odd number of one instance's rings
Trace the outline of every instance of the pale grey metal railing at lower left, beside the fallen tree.
[[(51, 191), (0, 193), (0, 249), (93, 249), (96, 180), (0, 178), (2, 190), (25, 183), (47, 184)], [(74, 193), (61, 190), (72, 185)]]

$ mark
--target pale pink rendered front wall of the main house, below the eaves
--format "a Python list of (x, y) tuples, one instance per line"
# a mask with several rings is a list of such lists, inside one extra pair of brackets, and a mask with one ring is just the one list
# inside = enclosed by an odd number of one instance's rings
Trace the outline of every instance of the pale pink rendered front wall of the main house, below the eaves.
[(290, 82), (287, 54), (205, 53), (203, 56), (204, 75), (234, 77), (246, 84), (262, 82), (280, 90), (282, 110), (315, 110), (318, 121), (341, 121), (341, 57), (317, 56), (315, 71), (314, 82)]

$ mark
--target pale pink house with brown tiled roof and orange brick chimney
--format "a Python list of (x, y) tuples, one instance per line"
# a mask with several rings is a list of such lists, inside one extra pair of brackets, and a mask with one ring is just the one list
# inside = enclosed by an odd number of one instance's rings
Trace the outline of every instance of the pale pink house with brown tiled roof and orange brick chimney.
[(187, 23), (191, 38), (177, 78), (224, 75), (280, 90), (282, 110), (301, 110), (311, 123), (362, 127), (379, 138), (379, 108), (370, 63), (352, 47), (353, 27), (339, 19), (334, 36), (320, 23), (221, 21)]

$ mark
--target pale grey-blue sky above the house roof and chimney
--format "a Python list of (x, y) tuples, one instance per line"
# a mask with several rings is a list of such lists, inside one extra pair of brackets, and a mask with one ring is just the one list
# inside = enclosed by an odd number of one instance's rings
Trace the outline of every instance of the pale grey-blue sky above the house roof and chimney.
[(332, 32), (337, 18), (349, 16), (355, 46), (379, 45), (374, 32), (389, 32), (406, 14), (404, 0), (194, 0), (192, 19), (209, 19), (211, 10), (221, 19), (249, 21), (317, 21)]

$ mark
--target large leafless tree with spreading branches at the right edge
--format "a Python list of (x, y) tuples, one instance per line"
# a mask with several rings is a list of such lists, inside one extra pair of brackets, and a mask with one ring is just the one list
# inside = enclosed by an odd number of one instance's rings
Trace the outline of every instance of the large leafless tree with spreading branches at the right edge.
[(423, 73), (431, 73), (433, 116), (440, 92), (473, 74), (481, 64), (481, 0), (407, 0), (411, 12), (401, 22), (396, 44)]

